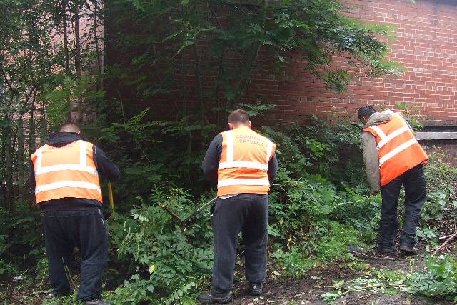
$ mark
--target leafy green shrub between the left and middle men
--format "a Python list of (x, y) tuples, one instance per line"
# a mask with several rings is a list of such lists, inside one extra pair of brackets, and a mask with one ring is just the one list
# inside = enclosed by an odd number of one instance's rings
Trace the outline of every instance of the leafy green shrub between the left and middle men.
[(211, 276), (213, 251), (209, 221), (185, 230), (159, 207), (166, 199), (170, 209), (186, 214), (191, 211), (189, 193), (172, 189), (169, 196), (157, 191), (151, 205), (131, 210), (129, 218), (116, 215), (113, 241), (119, 264), (130, 264), (129, 280), (110, 296), (119, 304), (141, 301), (171, 304)]

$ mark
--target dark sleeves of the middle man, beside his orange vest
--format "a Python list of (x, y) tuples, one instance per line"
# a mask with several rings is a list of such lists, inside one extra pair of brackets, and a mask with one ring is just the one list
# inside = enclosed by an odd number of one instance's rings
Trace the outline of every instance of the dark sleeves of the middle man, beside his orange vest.
[[(221, 161), (221, 154), (222, 135), (218, 134), (209, 144), (203, 160), (204, 175), (214, 185), (217, 184), (217, 169), (219, 168), (219, 161)], [(273, 154), (273, 158), (268, 162), (268, 180), (270, 180), (270, 184), (273, 184), (276, 174), (278, 174), (278, 159), (276, 159), (276, 154)]]

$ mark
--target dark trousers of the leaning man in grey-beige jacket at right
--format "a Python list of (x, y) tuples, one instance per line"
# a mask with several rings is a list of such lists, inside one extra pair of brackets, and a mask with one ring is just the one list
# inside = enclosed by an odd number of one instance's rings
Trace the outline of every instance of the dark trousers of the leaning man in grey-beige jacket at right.
[(416, 229), (427, 194), (422, 164), (406, 171), (406, 173), (381, 188), (383, 204), (381, 207), (378, 244), (383, 249), (393, 247), (393, 241), (398, 233), (397, 207), (402, 185), (405, 187), (405, 214), (400, 234), (400, 244), (406, 246), (414, 246), (416, 244)]

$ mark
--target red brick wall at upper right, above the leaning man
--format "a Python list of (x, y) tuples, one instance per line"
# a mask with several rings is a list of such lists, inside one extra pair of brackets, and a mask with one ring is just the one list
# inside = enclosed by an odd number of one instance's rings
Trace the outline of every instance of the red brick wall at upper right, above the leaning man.
[(285, 77), (256, 71), (246, 101), (258, 98), (277, 104), (276, 121), (301, 121), (308, 114), (348, 114), (368, 104), (396, 108), (405, 103), (426, 125), (457, 126), (457, 1), (345, 0), (348, 16), (396, 26), (391, 60), (406, 68), (403, 76), (354, 80), (346, 94), (328, 91), (310, 76), (301, 60), (288, 61)]

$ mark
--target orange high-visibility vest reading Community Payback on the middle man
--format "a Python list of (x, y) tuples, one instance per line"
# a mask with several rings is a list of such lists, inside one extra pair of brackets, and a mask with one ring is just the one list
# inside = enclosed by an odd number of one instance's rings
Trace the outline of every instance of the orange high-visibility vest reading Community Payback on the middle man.
[(268, 162), (276, 145), (247, 126), (224, 131), (221, 135), (217, 195), (268, 194)]

